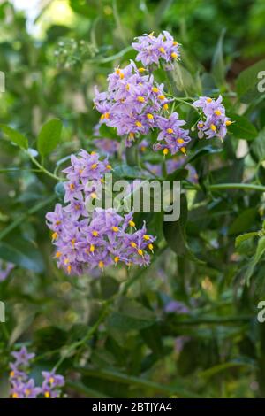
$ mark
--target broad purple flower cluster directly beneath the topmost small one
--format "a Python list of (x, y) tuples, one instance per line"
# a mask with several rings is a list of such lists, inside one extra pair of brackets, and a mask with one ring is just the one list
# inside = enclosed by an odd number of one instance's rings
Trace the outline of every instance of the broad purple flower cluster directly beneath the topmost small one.
[[(163, 84), (154, 82), (152, 75), (141, 75), (131, 62), (124, 69), (111, 73), (107, 92), (95, 89), (95, 107), (102, 113), (101, 123), (116, 127), (118, 135), (126, 135), (130, 146), (136, 135), (148, 135), (151, 129), (159, 128), (155, 150), (163, 149), (164, 154), (186, 153), (190, 142), (189, 131), (181, 128), (186, 124), (173, 112), (169, 118), (161, 111), (167, 110), (169, 100), (163, 94)], [(163, 141), (163, 143), (162, 143)]]

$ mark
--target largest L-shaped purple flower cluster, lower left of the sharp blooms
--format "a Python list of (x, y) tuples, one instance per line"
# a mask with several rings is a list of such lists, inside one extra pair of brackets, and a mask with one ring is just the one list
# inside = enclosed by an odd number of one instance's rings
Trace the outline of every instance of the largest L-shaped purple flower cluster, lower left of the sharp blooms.
[(145, 224), (136, 230), (133, 212), (125, 217), (114, 209), (87, 212), (87, 197), (96, 197), (97, 186), (110, 169), (107, 159), (101, 161), (94, 152), (81, 150), (71, 161), (64, 170), (69, 180), (64, 182), (64, 202), (68, 204), (57, 204), (46, 215), (57, 248), (57, 266), (69, 274), (83, 274), (118, 262), (148, 265), (155, 237), (147, 234)]

